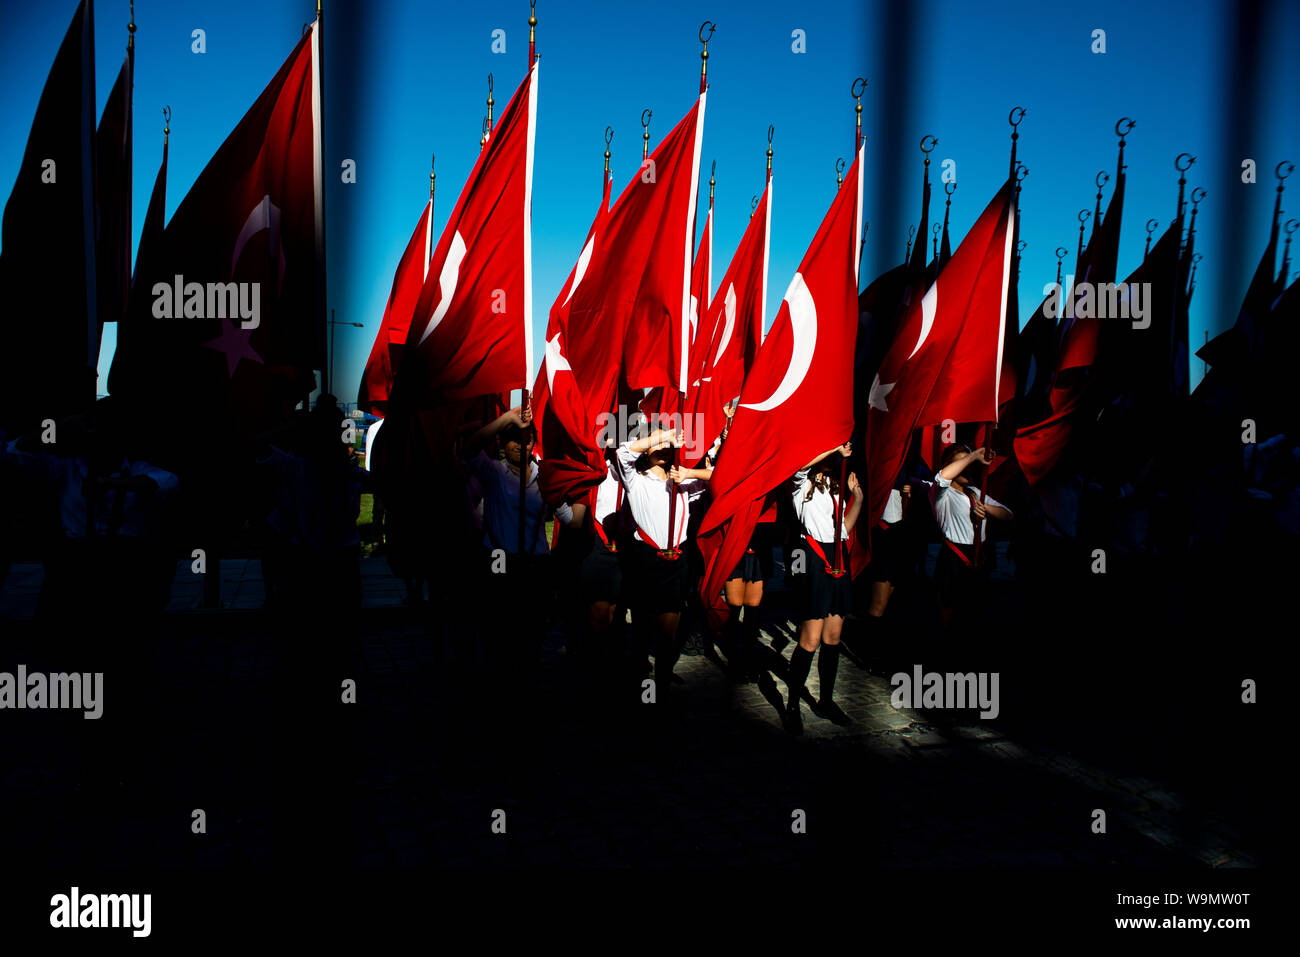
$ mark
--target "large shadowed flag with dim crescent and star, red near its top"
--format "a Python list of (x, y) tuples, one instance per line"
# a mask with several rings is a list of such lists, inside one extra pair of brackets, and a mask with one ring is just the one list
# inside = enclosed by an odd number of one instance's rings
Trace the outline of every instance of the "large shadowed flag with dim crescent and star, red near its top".
[(187, 434), (287, 421), (324, 365), (317, 44), (313, 23), (138, 263), (109, 387)]

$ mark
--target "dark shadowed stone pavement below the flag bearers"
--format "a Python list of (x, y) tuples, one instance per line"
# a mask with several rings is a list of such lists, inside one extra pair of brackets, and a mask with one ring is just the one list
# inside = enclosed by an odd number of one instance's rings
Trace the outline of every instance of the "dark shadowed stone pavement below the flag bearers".
[[(94, 827), (77, 771), (84, 724), (0, 716), (22, 722), (0, 759), (10, 805), (0, 841), (14, 859), (183, 867), (291, 853), (282, 822), (304, 802), (294, 792), (285, 809), (283, 766), (315, 726), (311, 713), (286, 722), (285, 683), (312, 638), (257, 611), (257, 562), (222, 562), (221, 576), (224, 611), (202, 611), (199, 579), (178, 567), (157, 683), (146, 692), (152, 740), (108, 745), (140, 748), (146, 759), (109, 787), (109, 800), (95, 798)], [(39, 567), (18, 566), (0, 592), (3, 668), (48, 661), (31, 620), (38, 589)], [(1135, 772), (1161, 749), (1158, 736), (1115, 750), (1089, 737), (1088, 713), (1018, 707), (1014, 675), (1004, 675), (1002, 718), (982, 720), (896, 709), (889, 668), (872, 674), (849, 655), (836, 697), (854, 724), (836, 727), (805, 706), (805, 736), (790, 739), (780, 703), (794, 635), (779, 590), (764, 607), (766, 680), (733, 687), (716, 650), (692, 640), (664, 719), (640, 703), (638, 675), (614, 687), (578, 680), (558, 627), (520, 685), (476, 666), (467, 645), (430, 636), (382, 559), (363, 562), (363, 589), (361, 654), (348, 672), (358, 703), (339, 705), (350, 724), (321, 758), (329, 798), (320, 840), (337, 849), (335, 863), (729, 866), (853, 856), (863, 866), (1232, 867), (1265, 853), (1243, 805), (1208, 778), (1180, 776), (1182, 765), (1171, 775)], [(927, 670), (959, 659), (937, 645), (920, 650)], [(815, 666), (809, 690), (819, 693)], [(1106, 693), (1092, 688), (1093, 700)], [(330, 727), (334, 735), (339, 726)], [(205, 835), (191, 833), (195, 807), (205, 811)], [(1092, 830), (1096, 809), (1106, 813), (1105, 833)], [(508, 840), (491, 831), (497, 811)], [(801, 814), (806, 832), (796, 833)]]

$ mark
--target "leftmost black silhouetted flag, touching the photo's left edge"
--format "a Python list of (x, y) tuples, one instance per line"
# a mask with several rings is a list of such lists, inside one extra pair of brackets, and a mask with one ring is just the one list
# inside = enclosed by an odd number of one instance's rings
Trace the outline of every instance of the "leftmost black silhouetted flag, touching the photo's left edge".
[(4, 209), (0, 421), (9, 430), (95, 402), (95, 13), (73, 16)]

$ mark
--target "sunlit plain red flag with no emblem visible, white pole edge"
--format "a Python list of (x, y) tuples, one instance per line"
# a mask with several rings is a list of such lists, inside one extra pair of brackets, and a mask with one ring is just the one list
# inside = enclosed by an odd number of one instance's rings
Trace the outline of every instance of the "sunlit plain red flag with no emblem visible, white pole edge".
[(692, 111), (642, 163), (610, 216), (610, 255), (625, 256), (637, 277), (610, 290), (628, 316), (623, 377), (630, 389), (686, 391), (690, 254), (706, 95), (699, 94)]

